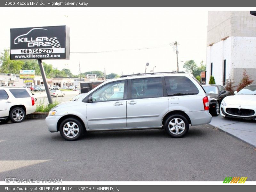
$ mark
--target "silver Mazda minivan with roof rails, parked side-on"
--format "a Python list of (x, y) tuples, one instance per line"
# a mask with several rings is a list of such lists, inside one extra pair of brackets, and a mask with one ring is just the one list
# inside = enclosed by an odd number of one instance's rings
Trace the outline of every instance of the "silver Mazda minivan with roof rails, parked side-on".
[(159, 128), (179, 138), (189, 124), (208, 124), (211, 119), (201, 84), (184, 72), (169, 72), (105, 81), (77, 100), (52, 108), (46, 124), (66, 140), (86, 131)]

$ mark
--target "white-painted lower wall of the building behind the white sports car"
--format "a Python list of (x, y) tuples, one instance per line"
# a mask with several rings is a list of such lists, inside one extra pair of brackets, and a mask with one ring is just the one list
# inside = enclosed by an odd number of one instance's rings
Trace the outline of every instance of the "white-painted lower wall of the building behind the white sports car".
[(243, 68), (256, 83), (256, 37), (232, 36), (207, 47), (206, 84), (209, 83), (211, 63), (216, 84), (223, 85), (223, 64), (226, 60), (226, 79), (230, 75), (235, 85), (242, 79)]

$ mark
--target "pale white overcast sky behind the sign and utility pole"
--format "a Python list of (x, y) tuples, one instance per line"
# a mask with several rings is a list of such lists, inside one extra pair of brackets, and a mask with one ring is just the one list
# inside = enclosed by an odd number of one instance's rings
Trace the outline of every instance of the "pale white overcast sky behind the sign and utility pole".
[[(168, 9), (1, 9), (0, 52), (10, 47), (10, 28), (67, 25), (70, 59), (43, 60), (73, 74), (92, 70), (121, 75), (177, 69), (173, 46), (177, 41), (179, 70), (186, 60), (206, 62), (207, 11)], [(74, 52), (104, 53), (74, 53)], [(106, 51), (106, 52), (105, 52)], [(111, 52), (108, 52), (111, 51)]]

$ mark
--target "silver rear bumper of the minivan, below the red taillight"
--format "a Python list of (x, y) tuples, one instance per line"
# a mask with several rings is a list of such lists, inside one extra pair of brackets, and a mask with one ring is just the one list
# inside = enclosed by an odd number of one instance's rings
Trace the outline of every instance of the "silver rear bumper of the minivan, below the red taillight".
[(186, 114), (189, 116), (192, 126), (208, 124), (212, 121), (209, 110), (187, 112)]

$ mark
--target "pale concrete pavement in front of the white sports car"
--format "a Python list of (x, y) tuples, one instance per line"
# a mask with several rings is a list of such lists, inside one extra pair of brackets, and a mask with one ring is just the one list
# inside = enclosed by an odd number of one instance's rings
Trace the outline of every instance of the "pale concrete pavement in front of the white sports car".
[(256, 147), (256, 121), (228, 119), (219, 115), (212, 117), (210, 124)]

